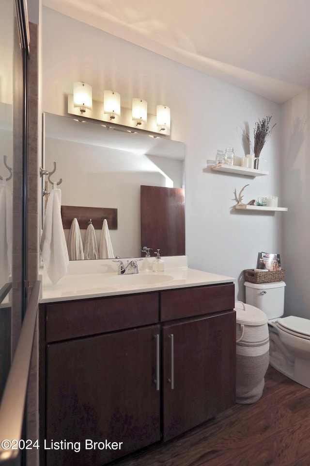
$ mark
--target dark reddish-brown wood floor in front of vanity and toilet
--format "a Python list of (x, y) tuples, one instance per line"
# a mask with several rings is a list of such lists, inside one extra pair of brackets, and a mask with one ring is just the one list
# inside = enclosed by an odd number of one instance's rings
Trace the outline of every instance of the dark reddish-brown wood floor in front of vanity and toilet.
[(236, 404), (165, 445), (117, 466), (309, 466), (310, 389), (269, 366), (262, 398)]

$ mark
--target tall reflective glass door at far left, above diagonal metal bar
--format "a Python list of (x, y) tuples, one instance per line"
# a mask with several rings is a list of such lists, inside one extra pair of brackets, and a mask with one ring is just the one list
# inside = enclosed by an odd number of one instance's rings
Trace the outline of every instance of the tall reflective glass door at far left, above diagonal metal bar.
[[(0, 399), (19, 338), (26, 303), (27, 235), (23, 161), (27, 123), (27, 8), (0, 0)], [(26, 31), (27, 30), (27, 31)], [(27, 39), (26, 39), (27, 36)], [(13, 195), (14, 193), (14, 195)], [(14, 215), (13, 215), (14, 213)]]

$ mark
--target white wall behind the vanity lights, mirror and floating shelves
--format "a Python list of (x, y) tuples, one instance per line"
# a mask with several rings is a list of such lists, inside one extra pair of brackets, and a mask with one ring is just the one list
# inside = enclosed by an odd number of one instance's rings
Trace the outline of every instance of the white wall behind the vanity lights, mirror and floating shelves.
[[(171, 139), (186, 144), (189, 266), (239, 280), (244, 268), (256, 266), (260, 251), (279, 252), (285, 265), (281, 216), (286, 214), (233, 210), (234, 190), (238, 194), (245, 184), (250, 183), (245, 201), (279, 194), (279, 105), (43, 8), (43, 111), (64, 115), (73, 82), (92, 84), (98, 76), (102, 91), (113, 88), (127, 103), (140, 96), (148, 101), (151, 114), (156, 103), (171, 107)], [(242, 140), (245, 123), (253, 128), (266, 115), (277, 123), (261, 154), (266, 160), (261, 167), (270, 176), (232, 176), (205, 168), (217, 149), (230, 145), (236, 155), (248, 153)], [(279, 205), (283, 202), (279, 195)], [(244, 297), (238, 282), (236, 297)]]

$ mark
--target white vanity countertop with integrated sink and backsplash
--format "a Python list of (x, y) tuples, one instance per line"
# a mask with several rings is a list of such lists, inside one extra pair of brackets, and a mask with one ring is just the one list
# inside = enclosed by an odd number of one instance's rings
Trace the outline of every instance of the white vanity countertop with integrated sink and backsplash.
[[(126, 265), (126, 259), (122, 260)], [(40, 302), (80, 300), (235, 281), (232, 277), (188, 268), (186, 256), (163, 260), (164, 272), (152, 271), (152, 257), (138, 262), (139, 274), (133, 275), (118, 275), (118, 264), (111, 259), (70, 262), (68, 274), (54, 285), (46, 271), (43, 272)]]

